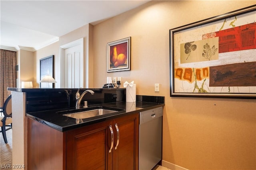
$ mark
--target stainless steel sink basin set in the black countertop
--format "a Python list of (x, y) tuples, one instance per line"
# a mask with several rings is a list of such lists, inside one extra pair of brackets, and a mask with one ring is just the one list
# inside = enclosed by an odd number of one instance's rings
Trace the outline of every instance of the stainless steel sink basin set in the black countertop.
[(94, 109), (94, 110), (88, 110), (88, 111), (81, 111), (77, 113), (64, 114), (64, 116), (73, 117), (75, 119), (85, 119), (89, 117), (94, 117), (94, 116), (104, 115), (104, 114), (114, 113), (114, 112), (118, 112), (118, 111), (108, 110), (108, 109)]

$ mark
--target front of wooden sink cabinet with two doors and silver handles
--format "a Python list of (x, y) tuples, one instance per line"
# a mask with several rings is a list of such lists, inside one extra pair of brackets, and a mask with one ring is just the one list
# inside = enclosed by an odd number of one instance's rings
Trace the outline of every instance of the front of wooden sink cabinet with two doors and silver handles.
[(67, 132), (67, 170), (138, 170), (138, 113)]

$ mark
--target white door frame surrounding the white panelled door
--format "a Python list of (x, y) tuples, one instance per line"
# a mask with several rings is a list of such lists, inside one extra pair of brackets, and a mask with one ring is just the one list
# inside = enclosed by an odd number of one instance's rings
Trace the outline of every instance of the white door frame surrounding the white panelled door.
[(80, 45), (81, 48), (81, 56), (83, 63), (81, 68), (81, 78), (82, 88), (84, 88), (84, 38), (80, 38), (60, 46), (60, 88), (64, 88), (64, 50), (76, 45)]

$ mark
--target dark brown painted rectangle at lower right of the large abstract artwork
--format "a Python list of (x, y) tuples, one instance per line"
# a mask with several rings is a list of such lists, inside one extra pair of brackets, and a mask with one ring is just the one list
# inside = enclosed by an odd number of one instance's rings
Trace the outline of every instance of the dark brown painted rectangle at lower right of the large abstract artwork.
[(209, 86), (256, 86), (256, 62), (210, 67)]

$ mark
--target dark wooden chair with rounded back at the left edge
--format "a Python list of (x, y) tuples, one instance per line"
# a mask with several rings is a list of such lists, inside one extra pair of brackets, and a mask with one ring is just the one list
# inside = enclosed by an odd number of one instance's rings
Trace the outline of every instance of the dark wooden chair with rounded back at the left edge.
[[(12, 95), (8, 96), (5, 100), (2, 111), (4, 116), (0, 117), (0, 125), (4, 143), (7, 143), (6, 131), (12, 129)], [(1, 114), (2, 115), (2, 114)], [(8, 128), (6, 128), (8, 127)]]

